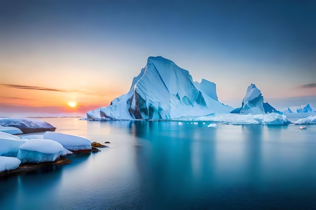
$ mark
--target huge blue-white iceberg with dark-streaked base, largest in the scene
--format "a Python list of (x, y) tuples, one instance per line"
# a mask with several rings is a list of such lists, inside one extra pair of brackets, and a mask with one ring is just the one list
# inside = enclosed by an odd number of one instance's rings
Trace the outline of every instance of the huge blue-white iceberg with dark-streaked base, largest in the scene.
[(87, 112), (86, 119), (173, 119), (215, 112), (229, 113), (230, 109), (217, 101), (214, 83), (194, 84), (188, 71), (158, 56), (148, 57), (128, 93), (108, 107)]

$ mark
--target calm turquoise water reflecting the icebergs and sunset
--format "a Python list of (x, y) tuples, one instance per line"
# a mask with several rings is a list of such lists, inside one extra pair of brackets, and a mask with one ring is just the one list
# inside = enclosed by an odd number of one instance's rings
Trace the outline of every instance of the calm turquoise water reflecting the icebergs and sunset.
[(42, 120), (111, 144), (0, 179), (0, 209), (316, 209), (316, 125)]

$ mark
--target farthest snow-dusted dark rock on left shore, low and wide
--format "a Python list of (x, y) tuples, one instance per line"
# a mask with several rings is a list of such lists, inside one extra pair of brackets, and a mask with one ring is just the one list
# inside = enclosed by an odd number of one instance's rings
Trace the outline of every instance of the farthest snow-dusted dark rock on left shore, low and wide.
[(19, 128), (23, 133), (41, 132), (41, 131), (54, 131), (56, 127), (48, 122), (31, 118), (0, 118), (0, 125), (12, 126)]

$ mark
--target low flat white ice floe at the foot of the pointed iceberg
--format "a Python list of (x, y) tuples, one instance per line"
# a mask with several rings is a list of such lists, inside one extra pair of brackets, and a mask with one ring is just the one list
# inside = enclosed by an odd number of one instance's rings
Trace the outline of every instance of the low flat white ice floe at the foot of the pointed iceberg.
[(180, 117), (182, 121), (213, 121), (234, 125), (287, 125), (291, 122), (285, 115), (269, 114), (212, 114), (207, 116)]

